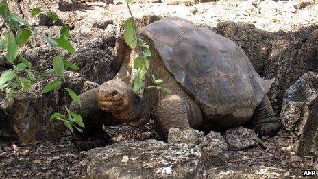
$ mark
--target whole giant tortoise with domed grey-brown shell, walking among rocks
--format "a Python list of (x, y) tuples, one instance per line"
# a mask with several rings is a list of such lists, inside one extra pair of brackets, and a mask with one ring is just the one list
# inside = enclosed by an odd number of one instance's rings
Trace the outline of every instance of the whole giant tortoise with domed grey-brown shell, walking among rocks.
[(132, 51), (119, 36), (112, 62), (117, 75), (80, 95), (82, 108), (71, 104), (86, 125), (82, 138), (73, 140), (77, 146), (106, 145), (102, 124), (138, 127), (151, 118), (162, 139), (167, 139), (171, 127), (218, 130), (251, 123), (259, 136), (278, 132), (280, 118), (267, 97), (273, 80), (262, 79), (232, 40), (177, 17), (156, 21), (139, 32), (153, 52), (146, 86), (154, 85), (149, 77), (154, 74), (172, 93), (156, 88), (140, 94), (132, 91), (132, 61), (138, 50)]

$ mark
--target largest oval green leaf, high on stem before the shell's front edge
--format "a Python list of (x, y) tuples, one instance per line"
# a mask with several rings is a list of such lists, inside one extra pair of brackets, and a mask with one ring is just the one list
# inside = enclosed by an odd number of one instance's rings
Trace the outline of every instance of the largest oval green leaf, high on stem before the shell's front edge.
[(136, 48), (138, 43), (138, 36), (135, 28), (134, 19), (132, 17), (128, 18), (124, 25), (123, 38), (127, 45), (132, 47), (132, 49)]

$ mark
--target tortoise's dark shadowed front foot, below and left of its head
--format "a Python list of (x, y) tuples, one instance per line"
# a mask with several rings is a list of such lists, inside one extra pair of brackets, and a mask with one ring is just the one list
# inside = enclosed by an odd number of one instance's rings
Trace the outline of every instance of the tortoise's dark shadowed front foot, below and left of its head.
[(81, 136), (79, 134), (74, 134), (72, 143), (79, 150), (90, 150), (96, 147), (111, 145), (112, 140), (106, 132), (96, 134), (95, 136)]

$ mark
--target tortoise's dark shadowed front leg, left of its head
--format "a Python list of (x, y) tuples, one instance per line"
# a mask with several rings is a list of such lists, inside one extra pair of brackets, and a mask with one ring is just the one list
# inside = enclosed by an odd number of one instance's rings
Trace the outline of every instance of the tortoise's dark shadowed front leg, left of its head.
[(98, 88), (93, 88), (79, 95), (82, 100), (81, 106), (72, 102), (70, 110), (82, 116), (85, 128), (83, 133), (74, 130), (72, 143), (79, 150), (88, 150), (94, 147), (101, 147), (111, 144), (110, 136), (103, 131), (103, 125), (110, 126), (112, 115), (103, 112), (97, 105)]

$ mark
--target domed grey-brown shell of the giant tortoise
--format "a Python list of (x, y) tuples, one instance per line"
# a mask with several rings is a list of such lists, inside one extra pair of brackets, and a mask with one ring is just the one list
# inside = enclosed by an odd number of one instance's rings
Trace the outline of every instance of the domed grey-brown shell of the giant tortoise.
[(232, 40), (178, 17), (140, 29), (165, 67), (197, 101), (205, 116), (252, 117), (272, 80), (256, 73)]

